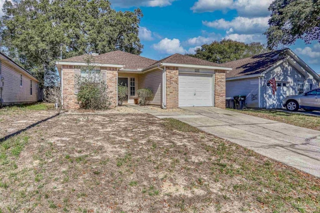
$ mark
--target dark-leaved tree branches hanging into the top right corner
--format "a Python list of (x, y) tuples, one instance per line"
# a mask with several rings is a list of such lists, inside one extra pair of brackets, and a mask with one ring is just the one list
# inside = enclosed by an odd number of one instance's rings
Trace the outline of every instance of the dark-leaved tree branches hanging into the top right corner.
[(297, 39), (320, 42), (320, 0), (274, 0), (269, 10), (264, 34), (270, 49), (289, 46)]

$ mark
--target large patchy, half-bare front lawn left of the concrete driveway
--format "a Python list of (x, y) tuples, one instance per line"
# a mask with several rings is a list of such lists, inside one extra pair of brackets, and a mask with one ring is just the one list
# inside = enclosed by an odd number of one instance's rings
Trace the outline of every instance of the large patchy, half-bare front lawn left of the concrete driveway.
[(320, 211), (319, 179), (146, 114), (61, 114), (2, 142), (0, 195), (5, 213)]

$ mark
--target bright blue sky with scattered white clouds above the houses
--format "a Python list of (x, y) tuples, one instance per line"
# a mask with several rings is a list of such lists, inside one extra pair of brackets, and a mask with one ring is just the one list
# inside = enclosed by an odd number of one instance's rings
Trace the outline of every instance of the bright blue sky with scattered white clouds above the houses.
[[(0, 0), (2, 7), (4, 0)], [(116, 10), (141, 8), (139, 37), (142, 56), (161, 59), (174, 53), (192, 53), (204, 43), (222, 38), (265, 43), (272, 0), (110, 0)], [(0, 15), (1, 15), (0, 10)], [(297, 41), (289, 46), (320, 73), (320, 44)]]

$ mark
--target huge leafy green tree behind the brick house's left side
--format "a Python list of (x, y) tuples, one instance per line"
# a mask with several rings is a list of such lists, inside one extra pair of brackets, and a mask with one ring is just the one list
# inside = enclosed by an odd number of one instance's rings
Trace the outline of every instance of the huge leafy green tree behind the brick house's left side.
[(41, 80), (44, 72), (55, 73), (60, 44), (63, 58), (113, 50), (140, 54), (143, 47), (141, 10), (117, 12), (108, 0), (5, 1), (3, 12), (1, 49)]

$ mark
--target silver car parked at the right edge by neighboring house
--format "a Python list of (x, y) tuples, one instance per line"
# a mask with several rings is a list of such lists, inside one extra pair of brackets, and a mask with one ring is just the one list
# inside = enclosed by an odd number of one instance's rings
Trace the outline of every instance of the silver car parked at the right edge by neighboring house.
[(320, 88), (300, 95), (290, 95), (283, 99), (283, 107), (289, 111), (304, 109), (305, 111), (320, 110)]

